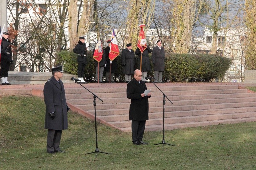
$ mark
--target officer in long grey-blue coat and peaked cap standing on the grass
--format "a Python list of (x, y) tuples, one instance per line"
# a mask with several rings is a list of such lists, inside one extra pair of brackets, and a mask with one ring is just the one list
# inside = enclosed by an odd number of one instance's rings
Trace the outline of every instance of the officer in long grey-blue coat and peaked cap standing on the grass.
[(68, 129), (68, 109), (65, 90), (60, 78), (63, 76), (62, 66), (52, 68), (52, 77), (44, 86), (44, 101), (46, 105), (45, 129), (47, 133), (47, 153), (61, 151), (59, 145), (62, 130)]

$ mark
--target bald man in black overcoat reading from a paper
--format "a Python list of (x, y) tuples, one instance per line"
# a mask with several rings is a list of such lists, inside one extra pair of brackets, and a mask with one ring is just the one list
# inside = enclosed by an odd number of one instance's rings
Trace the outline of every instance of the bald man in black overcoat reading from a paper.
[(134, 79), (127, 84), (127, 98), (131, 99), (129, 120), (132, 120), (132, 141), (134, 145), (148, 144), (142, 141), (146, 120), (149, 120), (149, 101), (151, 93), (143, 94), (147, 89), (141, 81), (140, 70), (134, 71)]

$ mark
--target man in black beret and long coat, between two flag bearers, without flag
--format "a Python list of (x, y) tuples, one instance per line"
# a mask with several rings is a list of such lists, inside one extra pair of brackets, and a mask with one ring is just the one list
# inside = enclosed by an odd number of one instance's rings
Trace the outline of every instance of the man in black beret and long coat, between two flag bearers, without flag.
[(124, 82), (129, 83), (132, 80), (132, 74), (134, 72), (134, 51), (132, 50), (132, 44), (126, 45), (127, 48), (122, 51), (122, 65), (123, 74), (125, 76)]

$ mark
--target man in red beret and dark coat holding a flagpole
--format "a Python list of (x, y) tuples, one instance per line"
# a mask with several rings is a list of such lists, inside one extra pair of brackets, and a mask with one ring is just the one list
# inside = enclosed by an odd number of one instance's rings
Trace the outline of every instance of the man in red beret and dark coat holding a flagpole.
[[(107, 41), (108, 46), (104, 49), (105, 50), (105, 54), (106, 54), (106, 59), (107, 59), (107, 66), (105, 67), (105, 72), (106, 72), (106, 78), (107, 78), (107, 82), (110, 83), (115, 83), (114, 81), (114, 73), (117, 72), (117, 59), (115, 58), (113, 61), (111, 61), (108, 58), (109, 52), (110, 52), (110, 44), (111, 44), (111, 40)], [(111, 70), (110, 70), (110, 66), (111, 66)], [(111, 75), (110, 75), (110, 71), (111, 71)], [(110, 77), (110, 79), (109, 79)]]

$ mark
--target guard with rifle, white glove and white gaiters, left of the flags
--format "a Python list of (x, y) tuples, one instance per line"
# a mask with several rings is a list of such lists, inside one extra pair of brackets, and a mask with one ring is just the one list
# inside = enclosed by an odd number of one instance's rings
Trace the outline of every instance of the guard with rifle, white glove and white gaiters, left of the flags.
[(78, 44), (73, 49), (73, 52), (77, 54), (77, 62), (78, 62), (78, 69), (77, 69), (77, 77), (81, 80), (80, 83), (87, 83), (84, 81), (84, 69), (86, 66), (86, 55), (87, 55), (87, 48), (84, 43), (85, 39), (84, 36), (79, 37)]

